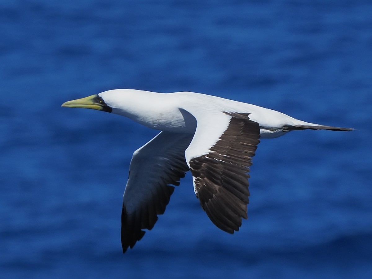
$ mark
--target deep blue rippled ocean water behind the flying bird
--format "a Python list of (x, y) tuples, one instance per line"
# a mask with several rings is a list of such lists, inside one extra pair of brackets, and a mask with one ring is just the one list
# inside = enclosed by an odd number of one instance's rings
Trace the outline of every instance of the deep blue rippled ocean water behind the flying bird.
[[(0, 278), (371, 278), (371, 12), (364, 0), (1, 1)], [(122, 254), (129, 161), (157, 132), (60, 107), (114, 88), (356, 131), (262, 140), (234, 235), (186, 176)]]

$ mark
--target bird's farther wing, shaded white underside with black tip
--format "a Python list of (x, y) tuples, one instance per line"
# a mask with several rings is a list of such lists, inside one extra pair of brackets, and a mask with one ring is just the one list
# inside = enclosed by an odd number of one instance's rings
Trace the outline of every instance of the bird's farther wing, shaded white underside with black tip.
[(185, 149), (192, 134), (160, 132), (133, 154), (123, 197), (123, 252), (151, 230), (163, 214), (180, 178), (189, 170)]

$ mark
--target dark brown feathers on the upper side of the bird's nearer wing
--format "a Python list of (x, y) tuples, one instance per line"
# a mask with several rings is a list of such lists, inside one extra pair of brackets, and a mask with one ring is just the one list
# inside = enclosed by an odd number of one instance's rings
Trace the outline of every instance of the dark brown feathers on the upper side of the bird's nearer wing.
[[(239, 230), (242, 218), (247, 219), (247, 172), (260, 142), (260, 127), (249, 119), (248, 113), (225, 114), (230, 123), (217, 142), (204, 155), (187, 160), (202, 208), (218, 228), (234, 233)], [(208, 138), (208, 134), (197, 129), (196, 137)], [(193, 142), (187, 153), (192, 154), (192, 149)]]

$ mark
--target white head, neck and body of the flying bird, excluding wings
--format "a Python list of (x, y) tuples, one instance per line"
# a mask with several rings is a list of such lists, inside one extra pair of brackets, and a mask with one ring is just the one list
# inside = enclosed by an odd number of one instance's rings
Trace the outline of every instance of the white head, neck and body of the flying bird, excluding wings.
[(208, 116), (211, 124), (214, 120), (211, 116), (215, 114), (218, 117), (223, 111), (250, 113), (249, 118), (260, 125), (262, 138), (282, 136), (285, 134), (282, 132), (285, 125), (320, 126), (269, 108), (201, 93), (117, 89), (105, 91), (99, 96), (113, 109), (113, 113), (129, 117), (147, 127), (169, 132), (193, 133), (195, 119)]

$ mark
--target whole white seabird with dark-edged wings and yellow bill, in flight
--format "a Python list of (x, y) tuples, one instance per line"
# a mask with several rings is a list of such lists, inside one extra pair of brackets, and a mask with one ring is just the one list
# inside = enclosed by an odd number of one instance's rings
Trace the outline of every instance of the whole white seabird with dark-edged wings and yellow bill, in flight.
[(123, 252), (151, 230), (180, 178), (191, 171), (196, 197), (211, 221), (228, 233), (247, 219), (248, 178), (260, 138), (292, 130), (351, 131), (308, 123), (275, 110), (193, 92), (109, 90), (62, 107), (119, 114), (160, 130), (130, 163), (122, 208)]

